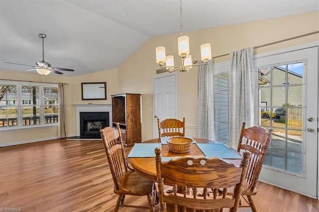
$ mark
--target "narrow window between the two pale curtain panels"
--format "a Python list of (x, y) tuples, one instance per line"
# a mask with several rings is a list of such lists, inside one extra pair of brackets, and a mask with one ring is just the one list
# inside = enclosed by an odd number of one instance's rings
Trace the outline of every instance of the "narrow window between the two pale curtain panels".
[(229, 73), (214, 75), (215, 141), (228, 145)]

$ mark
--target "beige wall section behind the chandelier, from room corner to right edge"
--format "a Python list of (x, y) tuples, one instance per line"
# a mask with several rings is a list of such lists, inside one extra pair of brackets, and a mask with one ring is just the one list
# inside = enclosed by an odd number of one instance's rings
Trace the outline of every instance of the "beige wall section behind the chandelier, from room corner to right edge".
[[(193, 60), (200, 59), (200, 45), (210, 43), (213, 57), (227, 54), (238, 49), (259, 46), (278, 40), (298, 36), (319, 30), (319, 12), (269, 19), (244, 24), (209, 28), (199, 31), (184, 32), (189, 36), (190, 54)], [(153, 78), (159, 69), (155, 60), (155, 48), (165, 46), (166, 54), (174, 56), (175, 65), (180, 64), (177, 54), (177, 37), (179, 34), (153, 37), (136, 51), (119, 67), (119, 82), (122, 92), (137, 92), (147, 96), (143, 104), (142, 140), (153, 138)], [(279, 44), (255, 49), (255, 54), (286, 48), (319, 40), (319, 34), (282, 42)], [(214, 63), (229, 60), (229, 57), (214, 59)], [(186, 134), (196, 136), (192, 127), (197, 125), (197, 68), (190, 73), (178, 73), (178, 118), (185, 116)]]

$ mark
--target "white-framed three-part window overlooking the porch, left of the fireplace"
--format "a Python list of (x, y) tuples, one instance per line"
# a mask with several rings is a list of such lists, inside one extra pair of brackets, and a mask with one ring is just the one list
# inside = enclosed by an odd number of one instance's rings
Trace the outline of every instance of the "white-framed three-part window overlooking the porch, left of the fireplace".
[(0, 81), (0, 129), (58, 123), (57, 84)]

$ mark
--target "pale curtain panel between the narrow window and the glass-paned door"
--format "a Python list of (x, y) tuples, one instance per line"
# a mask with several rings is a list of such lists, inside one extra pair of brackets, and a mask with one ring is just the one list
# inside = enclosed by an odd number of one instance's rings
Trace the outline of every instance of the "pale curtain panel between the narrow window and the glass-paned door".
[(253, 47), (230, 53), (229, 146), (237, 148), (243, 122), (254, 123)]

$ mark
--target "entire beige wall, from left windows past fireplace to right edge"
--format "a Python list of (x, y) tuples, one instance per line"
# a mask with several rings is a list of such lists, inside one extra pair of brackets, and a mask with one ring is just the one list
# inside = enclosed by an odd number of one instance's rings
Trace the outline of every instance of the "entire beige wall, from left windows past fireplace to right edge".
[[(244, 24), (235, 24), (223, 27), (209, 28), (199, 31), (184, 32), (189, 36), (190, 53), (193, 60), (200, 59), (200, 45), (211, 43), (212, 55), (228, 54), (238, 49), (259, 46), (266, 43), (298, 36), (301, 34), (319, 30), (319, 12), (305, 13), (295, 16), (287, 16), (276, 19), (268, 19)], [(92, 104), (110, 104), (111, 94), (118, 93), (140, 93), (143, 98), (143, 123), (142, 140), (153, 138), (153, 78), (165, 75), (157, 75), (156, 70), (159, 66), (155, 61), (155, 48), (165, 46), (166, 54), (172, 54), (175, 58), (175, 64), (180, 64), (177, 54), (178, 34), (153, 37), (140, 47), (131, 57), (125, 61), (118, 69), (102, 71), (94, 74), (87, 74), (78, 77), (59, 77), (49, 75), (45, 77), (45, 82), (65, 82), (66, 102), (71, 111), (67, 111), (70, 118), (68, 123), (68, 134), (75, 135), (75, 108), (74, 104), (87, 104), (90, 101), (81, 101), (81, 82), (107, 82), (106, 101), (91, 101)], [(285, 41), (279, 44), (270, 45), (255, 49), (254, 53), (263, 53), (276, 49), (286, 48), (304, 43), (319, 41), (319, 34)], [(214, 63), (226, 61), (229, 57), (219, 57), (214, 59)], [(42, 81), (42, 77), (37, 74), (1, 72), (0, 79)], [(105, 79), (105, 80), (104, 80)], [(186, 130), (189, 130), (191, 136), (196, 136), (196, 130), (187, 125), (197, 125), (197, 68), (193, 67), (190, 73), (178, 73), (178, 118), (185, 116)], [(90, 103), (91, 103), (90, 102)], [(69, 119), (68, 119), (69, 120)], [(0, 144), (8, 142), (23, 141), (25, 133), (28, 133), (27, 139), (38, 139), (56, 136), (55, 127), (41, 128), (41, 130), (15, 130), (0, 131)], [(40, 132), (38, 132), (40, 131)], [(187, 134), (187, 132), (186, 132)]]

